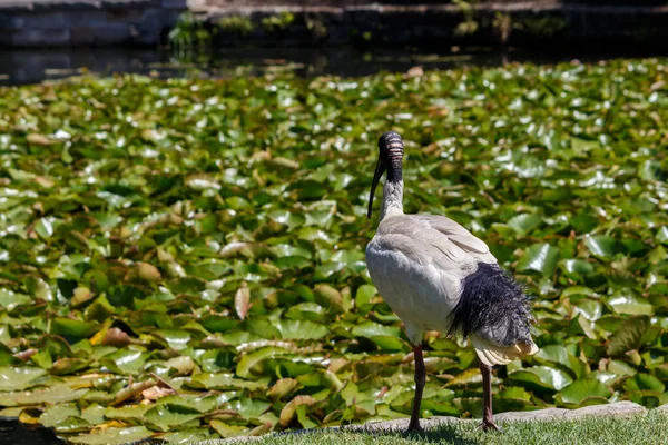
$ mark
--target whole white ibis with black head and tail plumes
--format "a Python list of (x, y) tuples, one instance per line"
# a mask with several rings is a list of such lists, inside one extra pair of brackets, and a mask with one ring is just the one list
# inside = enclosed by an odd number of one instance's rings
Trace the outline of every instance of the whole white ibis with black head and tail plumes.
[(366, 246), (369, 274), (404, 324), (415, 357), (415, 398), (409, 431), (420, 429), (425, 382), (422, 334), (470, 337), (480, 358), (484, 412), (480, 428), (497, 429), (491, 369), (538, 352), (530, 334), (529, 298), (498, 265), (488, 246), (455, 221), (403, 212), (403, 140), (389, 131), (379, 140), (369, 218), (385, 171), (379, 229)]

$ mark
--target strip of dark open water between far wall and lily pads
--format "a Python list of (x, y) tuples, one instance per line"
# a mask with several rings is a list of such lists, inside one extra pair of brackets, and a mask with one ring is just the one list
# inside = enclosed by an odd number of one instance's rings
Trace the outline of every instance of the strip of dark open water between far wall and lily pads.
[(229, 77), (294, 71), (299, 76), (363, 76), (381, 70), (407, 71), (455, 68), (464, 65), (498, 66), (521, 61), (552, 63), (579, 59), (596, 61), (616, 57), (668, 56), (644, 49), (587, 50), (580, 53), (466, 48), (225, 48), (178, 53), (159, 49), (30, 49), (0, 50), (0, 85), (37, 83), (82, 72), (135, 72), (156, 77)]

